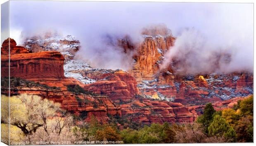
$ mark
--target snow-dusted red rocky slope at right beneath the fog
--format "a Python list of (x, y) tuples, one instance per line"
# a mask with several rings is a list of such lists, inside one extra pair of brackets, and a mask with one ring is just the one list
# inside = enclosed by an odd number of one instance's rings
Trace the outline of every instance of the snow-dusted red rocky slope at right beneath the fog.
[(252, 73), (208, 74), (204, 76), (184, 76), (169, 84), (159, 83), (157, 79), (143, 80), (142, 83), (138, 84), (138, 87), (142, 95), (148, 98), (180, 102), (185, 105), (220, 102), (253, 94)]

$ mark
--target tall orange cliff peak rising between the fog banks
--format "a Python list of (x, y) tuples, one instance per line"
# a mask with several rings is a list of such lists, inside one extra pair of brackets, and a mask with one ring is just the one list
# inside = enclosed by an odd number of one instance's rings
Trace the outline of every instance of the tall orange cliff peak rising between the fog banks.
[[(162, 76), (159, 65), (164, 60), (164, 53), (173, 46), (175, 37), (168, 29), (146, 29), (142, 32), (144, 41), (133, 56), (132, 76), (140, 83), (142, 80), (152, 80), (154, 76)], [(161, 32), (160, 35), (159, 32)]]

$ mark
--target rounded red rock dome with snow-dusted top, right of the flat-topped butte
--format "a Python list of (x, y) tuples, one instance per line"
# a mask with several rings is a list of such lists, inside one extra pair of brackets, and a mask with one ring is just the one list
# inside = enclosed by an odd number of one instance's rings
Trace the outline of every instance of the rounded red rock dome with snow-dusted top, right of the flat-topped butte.
[(111, 100), (129, 100), (139, 94), (135, 78), (122, 70), (88, 70), (84, 76), (95, 80), (85, 85), (85, 90), (107, 95)]

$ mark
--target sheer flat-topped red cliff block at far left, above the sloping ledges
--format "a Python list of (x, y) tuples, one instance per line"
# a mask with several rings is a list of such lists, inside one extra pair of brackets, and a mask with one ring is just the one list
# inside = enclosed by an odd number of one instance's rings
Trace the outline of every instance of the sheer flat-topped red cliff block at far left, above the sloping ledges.
[[(2, 56), (1, 76), (8, 76), (9, 56)], [(64, 58), (56, 51), (23, 53), (10, 56), (10, 76), (23, 79), (64, 78)]]

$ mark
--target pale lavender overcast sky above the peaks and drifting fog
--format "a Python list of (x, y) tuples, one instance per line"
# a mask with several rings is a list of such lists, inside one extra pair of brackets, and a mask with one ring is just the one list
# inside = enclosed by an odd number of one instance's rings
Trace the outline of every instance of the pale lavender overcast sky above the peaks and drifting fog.
[(31, 36), (52, 29), (75, 36), (90, 50), (101, 35), (128, 34), (137, 40), (143, 27), (157, 23), (176, 37), (193, 28), (216, 48), (234, 46), (244, 52), (237, 61), (252, 67), (253, 4), (10, 1), (10, 37), (17, 44), (21, 32)]

